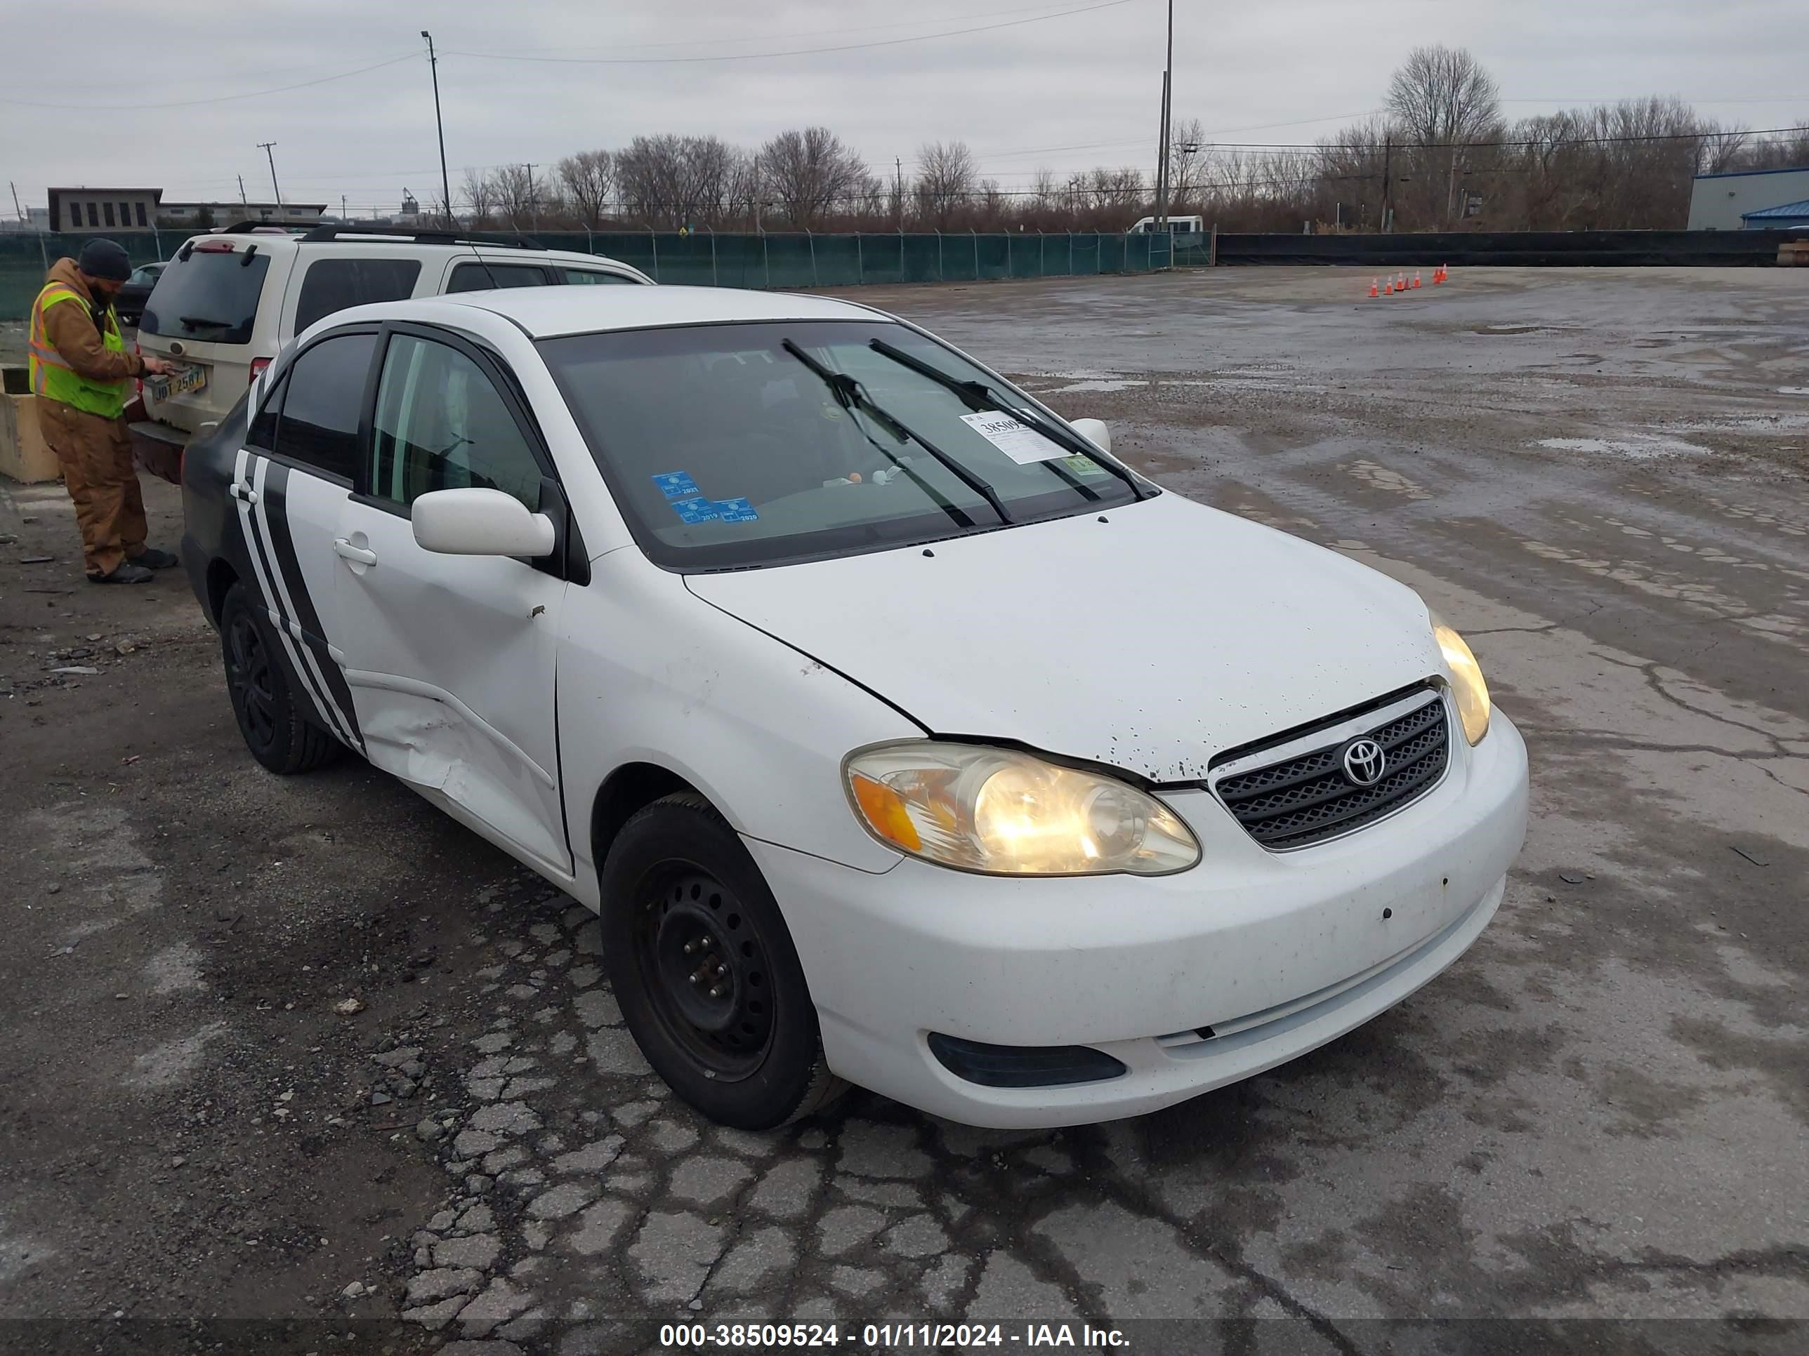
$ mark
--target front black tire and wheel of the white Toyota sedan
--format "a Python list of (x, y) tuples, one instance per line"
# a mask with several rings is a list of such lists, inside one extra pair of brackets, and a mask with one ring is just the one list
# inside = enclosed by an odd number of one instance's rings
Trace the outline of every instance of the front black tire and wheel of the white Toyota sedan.
[(668, 796), (622, 826), (602, 868), (599, 922), (640, 1052), (704, 1116), (772, 1130), (847, 1088), (823, 1061), (780, 906), (702, 796)]

